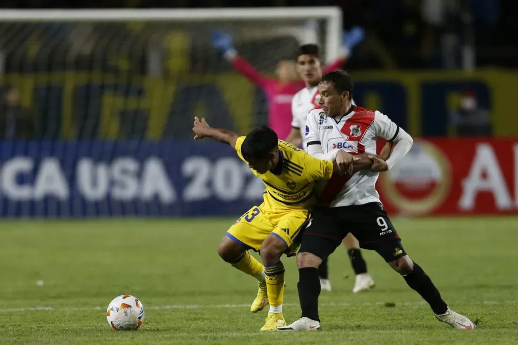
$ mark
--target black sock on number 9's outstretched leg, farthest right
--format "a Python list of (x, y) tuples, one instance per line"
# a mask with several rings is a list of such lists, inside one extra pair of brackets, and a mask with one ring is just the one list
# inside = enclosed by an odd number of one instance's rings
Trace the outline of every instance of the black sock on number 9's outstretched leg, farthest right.
[(414, 262), (414, 269), (411, 274), (404, 276), (408, 286), (414, 289), (431, 307), (437, 315), (444, 314), (448, 310), (446, 302), (442, 300), (441, 294), (430, 277), (426, 275), (421, 266)]

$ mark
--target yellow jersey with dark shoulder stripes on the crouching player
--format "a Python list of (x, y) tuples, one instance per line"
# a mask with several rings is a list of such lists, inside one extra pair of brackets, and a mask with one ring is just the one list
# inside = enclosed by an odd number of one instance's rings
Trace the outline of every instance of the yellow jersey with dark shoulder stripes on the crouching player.
[[(247, 162), (241, 154), (244, 138), (241, 136), (237, 139), (236, 151), (239, 158)], [(278, 212), (310, 208), (317, 201), (313, 191), (314, 181), (330, 179), (333, 162), (316, 159), (283, 140), (279, 140), (278, 147), (279, 164), (276, 168), (265, 174), (252, 169), (253, 174), (262, 179), (266, 186), (265, 209)]]

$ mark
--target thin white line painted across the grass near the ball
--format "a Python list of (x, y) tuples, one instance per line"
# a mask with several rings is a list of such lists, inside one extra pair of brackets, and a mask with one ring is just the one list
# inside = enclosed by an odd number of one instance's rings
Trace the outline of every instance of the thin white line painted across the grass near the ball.
[[(501, 304), (516, 304), (517, 301), (494, 301), (494, 300), (486, 300), (486, 301), (457, 301), (454, 304), (470, 304), (470, 305), (501, 305)], [(356, 303), (320, 303), (319, 305), (322, 307), (350, 307), (350, 306), (383, 306), (386, 305), (387, 302), (366, 302), (362, 304)], [(421, 306), (426, 305), (425, 301), (415, 301), (415, 302), (404, 302), (404, 303), (395, 303), (397, 306)], [(296, 303), (285, 303), (284, 306), (298, 306)], [(223, 308), (248, 308), (249, 304), (209, 304), (209, 305), (198, 305), (198, 304), (177, 304), (177, 305), (164, 305), (164, 306), (149, 306), (146, 309), (149, 310), (170, 310), (170, 309), (223, 309)], [(68, 308), (68, 307), (50, 307), (50, 306), (41, 306), (41, 307), (29, 307), (29, 308), (9, 308), (9, 309), (0, 309), (0, 313), (2, 312), (27, 312), (27, 311), (92, 311), (92, 310), (106, 310), (106, 307), (84, 307), (84, 308)]]

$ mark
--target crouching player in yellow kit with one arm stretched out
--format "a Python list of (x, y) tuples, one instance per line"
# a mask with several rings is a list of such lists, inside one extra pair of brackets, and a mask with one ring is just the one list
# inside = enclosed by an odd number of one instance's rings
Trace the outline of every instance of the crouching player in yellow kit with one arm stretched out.
[[(283, 253), (295, 255), (299, 235), (310, 219), (316, 203), (313, 182), (330, 179), (333, 174), (352, 174), (370, 168), (367, 155), (353, 157), (341, 150), (336, 161), (315, 159), (288, 142), (278, 140), (268, 127), (256, 128), (246, 137), (211, 128), (205, 119), (194, 121), (195, 139), (209, 137), (228, 143), (254, 175), (266, 186), (264, 202), (252, 207), (232, 225), (223, 237), (218, 253), (225, 262), (254, 277), (259, 291), (250, 311), (270, 310), (261, 330), (276, 330), (285, 325), (282, 315), (284, 291)], [(260, 251), (264, 266), (249, 250)]]

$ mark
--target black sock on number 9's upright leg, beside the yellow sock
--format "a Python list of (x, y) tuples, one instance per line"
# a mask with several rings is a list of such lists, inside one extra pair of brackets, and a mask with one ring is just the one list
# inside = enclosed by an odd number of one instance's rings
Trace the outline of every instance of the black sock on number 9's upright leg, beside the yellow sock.
[(300, 309), (302, 309), (301, 318), (309, 318), (319, 321), (319, 295), (320, 281), (319, 270), (314, 267), (306, 267), (298, 269), (298, 298), (300, 300)]

